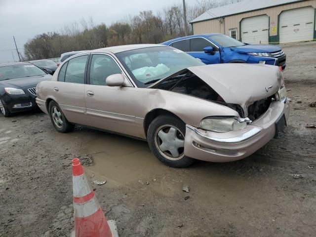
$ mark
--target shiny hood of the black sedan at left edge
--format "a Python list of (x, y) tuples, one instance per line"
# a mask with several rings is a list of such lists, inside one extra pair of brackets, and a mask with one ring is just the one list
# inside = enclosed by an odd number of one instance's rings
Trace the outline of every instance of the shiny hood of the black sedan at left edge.
[(52, 78), (51, 75), (46, 74), (42, 76), (0, 80), (0, 86), (22, 88), (22, 87), (31, 86), (31, 85), (37, 85), (40, 81), (50, 80), (51, 78)]

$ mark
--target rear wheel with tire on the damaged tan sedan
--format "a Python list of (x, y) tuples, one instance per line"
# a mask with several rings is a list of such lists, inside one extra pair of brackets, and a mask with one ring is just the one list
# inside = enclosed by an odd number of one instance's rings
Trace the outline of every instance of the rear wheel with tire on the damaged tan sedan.
[(67, 120), (55, 101), (49, 103), (48, 111), (50, 120), (58, 132), (65, 133), (74, 129), (75, 125)]

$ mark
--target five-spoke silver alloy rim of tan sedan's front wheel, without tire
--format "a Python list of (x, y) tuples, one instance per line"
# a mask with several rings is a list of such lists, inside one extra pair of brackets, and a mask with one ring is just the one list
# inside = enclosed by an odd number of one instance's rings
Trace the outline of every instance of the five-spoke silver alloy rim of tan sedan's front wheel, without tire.
[(175, 126), (162, 125), (155, 132), (155, 145), (159, 153), (170, 160), (184, 157), (184, 135)]

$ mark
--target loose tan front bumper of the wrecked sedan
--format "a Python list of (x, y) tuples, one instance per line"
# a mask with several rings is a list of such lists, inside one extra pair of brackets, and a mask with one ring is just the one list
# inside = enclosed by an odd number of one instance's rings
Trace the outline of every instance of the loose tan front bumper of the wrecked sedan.
[(268, 111), (246, 128), (226, 133), (205, 131), (191, 125), (186, 126), (184, 154), (188, 157), (229, 162), (250, 156), (276, 134), (276, 121), (289, 118), (289, 102), (275, 101)]

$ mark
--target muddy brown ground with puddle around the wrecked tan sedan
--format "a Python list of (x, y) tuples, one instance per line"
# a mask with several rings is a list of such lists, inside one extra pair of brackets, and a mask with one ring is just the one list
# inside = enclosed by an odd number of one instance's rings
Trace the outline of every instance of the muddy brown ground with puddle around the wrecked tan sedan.
[(237, 162), (169, 168), (143, 141), (82, 127), (61, 134), (39, 111), (0, 117), (0, 236), (69, 236), (80, 156), (94, 160), (84, 166), (91, 180), (107, 181), (93, 187), (120, 237), (315, 237), (316, 128), (306, 125), (316, 124), (316, 44), (284, 51), (286, 134)]

